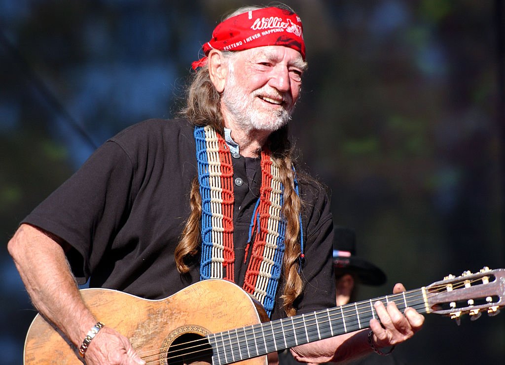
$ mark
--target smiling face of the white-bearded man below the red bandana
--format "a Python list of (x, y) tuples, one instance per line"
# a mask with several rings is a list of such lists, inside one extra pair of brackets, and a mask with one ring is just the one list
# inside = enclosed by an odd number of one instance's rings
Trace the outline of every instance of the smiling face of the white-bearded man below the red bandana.
[(223, 115), (245, 132), (273, 132), (291, 117), (306, 63), (284, 46), (251, 48), (233, 55), (222, 95)]

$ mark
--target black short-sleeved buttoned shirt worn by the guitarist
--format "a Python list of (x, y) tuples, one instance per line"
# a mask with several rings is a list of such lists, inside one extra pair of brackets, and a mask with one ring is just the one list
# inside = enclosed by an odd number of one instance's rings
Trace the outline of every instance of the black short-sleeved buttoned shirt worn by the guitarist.
[[(190, 213), (189, 192), (197, 175), (193, 126), (184, 119), (150, 119), (131, 126), (95, 153), (23, 222), (67, 241), (79, 283), (122, 290), (149, 299), (167, 297), (199, 280), (199, 257), (187, 275), (177, 271), (174, 250)], [(235, 278), (242, 286), (250, 218), (261, 185), (260, 160), (232, 158)], [(331, 275), (332, 219), (328, 197), (299, 179), (306, 281), (298, 313), (334, 307)], [(250, 255), (247, 255), (247, 259)], [(272, 318), (280, 310), (282, 278)]]

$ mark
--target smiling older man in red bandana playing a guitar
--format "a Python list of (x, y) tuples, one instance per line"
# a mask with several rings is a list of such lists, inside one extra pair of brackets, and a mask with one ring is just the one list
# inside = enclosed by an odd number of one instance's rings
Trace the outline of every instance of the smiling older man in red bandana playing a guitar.
[[(107, 141), (9, 242), (34, 306), (86, 363), (145, 361), (95, 318), (76, 279), (150, 299), (225, 279), (271, 319), (334, 303), (328, 198), (295, 172), (287, 139), (307, 68), (299, 17), (243, 8), (203, 48), (183, 118), (147, 120)], [(371, 343), (360, 331), (297, 346), (294, 356), (349, 358), (423, 323), (393, 303), (375, 310), (382, 326), (370, 322)]]

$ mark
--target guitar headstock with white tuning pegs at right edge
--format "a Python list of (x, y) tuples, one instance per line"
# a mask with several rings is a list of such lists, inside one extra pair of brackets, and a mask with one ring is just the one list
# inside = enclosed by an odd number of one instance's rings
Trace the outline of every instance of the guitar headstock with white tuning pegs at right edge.
[(482, 312), (494, 316), (505, 306), (505, 269), (484, 267), (478, 273), (465, 271), (448, 275), (425, 287), (430, 313), (450, 316), (459, 321), (464, 314), (477, 319)]

